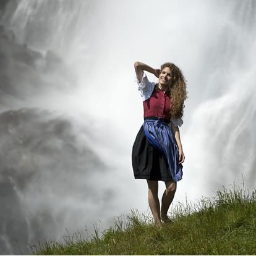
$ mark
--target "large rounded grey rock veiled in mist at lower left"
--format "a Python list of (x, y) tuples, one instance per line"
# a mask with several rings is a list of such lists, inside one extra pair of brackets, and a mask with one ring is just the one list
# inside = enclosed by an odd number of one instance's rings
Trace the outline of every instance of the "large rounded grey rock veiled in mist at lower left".
[(105, 166), (77, 140), (70, 121), (56, 113), (20, 109), (0, 115), (2, 254), (20, 254), (19, 247), (24, 253), (26, 243), (58, 235), (63, 224), (85, 213), (89, 191), (99, 198), (109, 192), (85, 182), (103, 175)]

